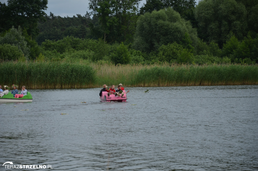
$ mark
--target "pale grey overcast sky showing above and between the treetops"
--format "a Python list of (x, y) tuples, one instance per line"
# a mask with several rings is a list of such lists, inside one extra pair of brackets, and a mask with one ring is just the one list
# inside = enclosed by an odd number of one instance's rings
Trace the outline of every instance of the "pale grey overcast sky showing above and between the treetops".
[[(0, 0), (0, 2), (5, 2), (7, 5), (7, 0)], [(140, 1), (139, 8), (143, 6), (143, 3), (146, 3), (146, 0)], [(76, 14), (83, 16), (86, 11), (90, 12), (88, 0), (48, 0), (47, 7), (45, 11), (47, 15), (52, 12), (55, 16), (59, 15), (61, 17), (73, 17)]]

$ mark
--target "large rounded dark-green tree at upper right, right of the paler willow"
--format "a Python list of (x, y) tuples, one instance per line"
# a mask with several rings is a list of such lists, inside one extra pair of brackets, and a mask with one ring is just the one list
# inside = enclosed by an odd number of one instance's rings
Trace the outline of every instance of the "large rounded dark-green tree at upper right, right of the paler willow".
[(241, 40), (246, 35), (247, 11), (235, 0), (203, 0), (195, 8), (199, 36), (221, 47), (232, 31)]

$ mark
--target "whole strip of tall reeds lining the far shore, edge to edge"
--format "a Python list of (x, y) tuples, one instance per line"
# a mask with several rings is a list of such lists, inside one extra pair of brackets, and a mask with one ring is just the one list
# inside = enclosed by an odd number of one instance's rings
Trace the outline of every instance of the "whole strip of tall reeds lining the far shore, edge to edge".
[(1, 85), (41, 88), (90, 88), (103, 84), (126, 87), (258, 84), (257, 65), (114, 65), (81, 60), (6, 62), (0, 64)]

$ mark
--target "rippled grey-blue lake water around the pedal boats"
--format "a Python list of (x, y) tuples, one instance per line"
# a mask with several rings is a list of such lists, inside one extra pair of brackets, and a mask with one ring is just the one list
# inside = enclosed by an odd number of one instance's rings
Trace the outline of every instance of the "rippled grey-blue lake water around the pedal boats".
[(123, 103), (100, 102), (100, 89), (28, 89), (33, 102), (0, 103), (0, 170), (13, 170), (8, 161), (70, 171), (258, 170), (258, 85), (126, 87)]

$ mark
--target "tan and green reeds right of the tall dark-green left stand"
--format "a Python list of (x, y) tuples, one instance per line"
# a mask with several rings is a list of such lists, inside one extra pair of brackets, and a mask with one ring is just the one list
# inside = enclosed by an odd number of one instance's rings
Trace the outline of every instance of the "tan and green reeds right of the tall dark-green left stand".
[(96, 86), (128, 87), (258, 84), (257, 65), (92, 64)]

